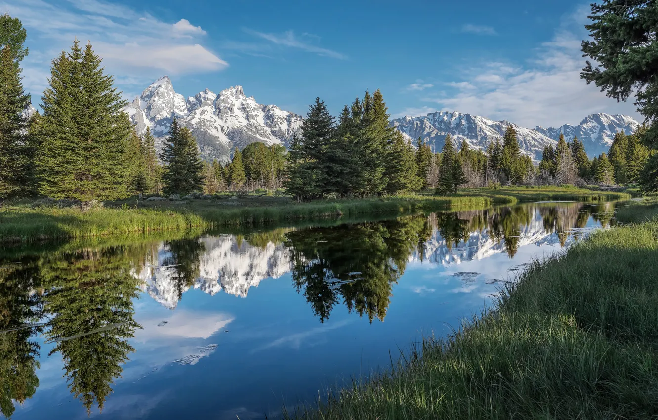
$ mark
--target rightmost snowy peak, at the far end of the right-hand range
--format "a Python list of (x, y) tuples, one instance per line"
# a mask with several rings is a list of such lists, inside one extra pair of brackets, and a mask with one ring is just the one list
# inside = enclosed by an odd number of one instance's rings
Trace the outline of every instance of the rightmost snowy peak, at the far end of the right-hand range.
[(639, 126), (640, 123), (628, 115), (592, 114), (576, 126), (564, 124), (559, 128), (548, 129), (538, 126), (535, 131), (553, 140), (557, 140), (560, 134), (564, 134), (567, 140), (577, 136), (585, 145), (587, 154), (594, 157), (608, 151), (615, 132), (632, 134)]

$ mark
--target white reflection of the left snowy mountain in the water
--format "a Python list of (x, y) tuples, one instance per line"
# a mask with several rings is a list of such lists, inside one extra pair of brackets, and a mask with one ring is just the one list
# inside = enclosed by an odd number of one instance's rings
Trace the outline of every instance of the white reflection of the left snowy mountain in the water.
[[(283, 244), (268, 242), (265, 247), (238, 242), (236, 236), (201, 238), (204, 251), (199, 256), (199, 276), (191, 288), (215, 296), (220, 290), (247, 297), (250, 287), (264, 278), (278, 278), (290, 271), (290, 256)], [(134, 271), (142, 281), (141, 288), (153, 300), (169, 309), (176, 309), (178, 293), (190, 289), (176, 283), (177, 265), (163, 265), (171, 256), (168, 246), (161, 244), (153, 263)]]

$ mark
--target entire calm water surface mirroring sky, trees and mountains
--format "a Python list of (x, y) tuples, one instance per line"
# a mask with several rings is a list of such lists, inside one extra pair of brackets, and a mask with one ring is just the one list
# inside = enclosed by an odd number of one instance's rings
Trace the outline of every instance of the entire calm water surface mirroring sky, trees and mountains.
[[(534, 203), (0, 256), (12, 419), (261, 419), (445, 336), (615, 205)], [(236, 417), (238, 416), (238, 417)]]

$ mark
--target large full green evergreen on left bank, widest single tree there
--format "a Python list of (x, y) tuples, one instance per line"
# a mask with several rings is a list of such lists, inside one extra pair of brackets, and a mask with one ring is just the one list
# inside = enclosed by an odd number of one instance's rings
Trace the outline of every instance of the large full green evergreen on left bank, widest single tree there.
[(54, 198), (128, 196), (130, 172), (122, 162), (132, 126), (126, 101), (103, 73), (101, 59), (76, 39), (53, 61), (39, 122), (39, 190)]

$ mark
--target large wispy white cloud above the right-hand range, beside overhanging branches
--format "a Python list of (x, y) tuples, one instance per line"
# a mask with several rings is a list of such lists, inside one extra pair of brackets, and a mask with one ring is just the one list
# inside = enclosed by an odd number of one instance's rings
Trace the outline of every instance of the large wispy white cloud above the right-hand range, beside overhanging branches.
[(585, 59), (580, 41), (587, 36), (588, 9), (580, 7), (555, 30), (555, 36), (522, 63), (478, 63), (461, 68), (464, 80), (447, 85), (453, 93), (426, 98), (440, 109), (459, 109), (497, 120), (534, 127), (577, 124), (592, 113), (625, 113), (640, 118), (631, 103), (617, 103), (580, 79)]

